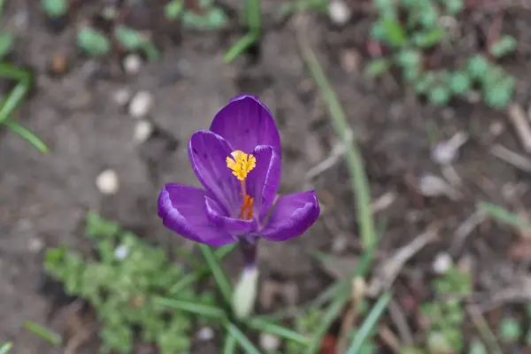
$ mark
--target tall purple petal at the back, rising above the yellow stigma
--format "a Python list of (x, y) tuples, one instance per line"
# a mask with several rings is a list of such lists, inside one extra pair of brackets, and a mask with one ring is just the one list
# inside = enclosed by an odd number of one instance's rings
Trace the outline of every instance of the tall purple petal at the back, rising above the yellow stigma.
[(281, 136), (273, 115), (258, 97), (235, 96), (216, 114), (210, 130), (223, 136), (233, 150), (249, 154), (258, 145), (270, 145), (281, 154)]

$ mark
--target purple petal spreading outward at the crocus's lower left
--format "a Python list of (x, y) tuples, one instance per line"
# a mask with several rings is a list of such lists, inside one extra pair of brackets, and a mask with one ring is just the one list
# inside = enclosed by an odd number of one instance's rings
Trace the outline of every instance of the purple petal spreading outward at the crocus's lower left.
[(207, 218), (204, 198), (208, 193), (196, 187), (166, 184), (158, 196), (158, 216), (165, 227), (195, 242), (223, 246), (237, 239), (221, 231)]

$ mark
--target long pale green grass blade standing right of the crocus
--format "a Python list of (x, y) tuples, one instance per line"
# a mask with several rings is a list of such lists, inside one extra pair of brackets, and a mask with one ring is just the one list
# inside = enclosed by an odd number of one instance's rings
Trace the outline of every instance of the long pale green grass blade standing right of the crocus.
[(349, 167), (350, 182), (356, 195), (356, 209), (358, 210), (359, 235), (365, 249), (377, 244), (378, 238), (374, 230), (373, 212), (371, 211), (371, 189), (365, 173), (365, 166), (357, 143), (354, 141), (352, 129), (349, 126), (345, 112), (328, 83), (327, 77), (313, 54), (307, 38), (299, 31), (297, 35), (299, 47), (319, 88), (320, 96), (328, 106), (332, 118), (335, 134), (345, 146), (345, 158)]

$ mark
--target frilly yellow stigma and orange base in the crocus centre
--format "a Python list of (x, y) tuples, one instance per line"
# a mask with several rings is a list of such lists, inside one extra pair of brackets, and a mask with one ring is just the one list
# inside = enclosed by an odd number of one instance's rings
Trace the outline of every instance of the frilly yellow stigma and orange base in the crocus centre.
[(242, 150), (235, 150), (227, 157), (227, 167), (230, 168), (238, 181), (242, 183), (243, 204), (240, 208), (240, 219), (252, 219), (252, 206), (254, 198), (251, 198), (245, 191), (245, 179), (247, 174), (256, 167), (257, 159), (251, 154), (246, 154)]

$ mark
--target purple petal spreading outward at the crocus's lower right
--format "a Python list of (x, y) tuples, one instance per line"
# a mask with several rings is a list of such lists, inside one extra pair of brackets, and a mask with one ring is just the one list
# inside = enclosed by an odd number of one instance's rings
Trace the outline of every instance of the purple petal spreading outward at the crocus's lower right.
[(314, 191), (281, 196), (273, 208), (266, 227), (258, 233), (269, 241), (286, 241), (303, 235), (319, 217)]

